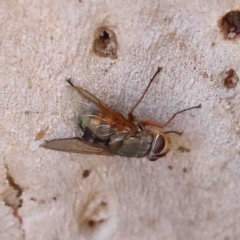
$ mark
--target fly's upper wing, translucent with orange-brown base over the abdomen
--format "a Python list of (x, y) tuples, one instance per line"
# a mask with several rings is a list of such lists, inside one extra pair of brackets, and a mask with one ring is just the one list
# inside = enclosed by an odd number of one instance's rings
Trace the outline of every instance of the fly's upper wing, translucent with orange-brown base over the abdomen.
[(68, 90), (72, 99), (71, 106), (79, 118), (82, 130), (89, 128), (94, 136), (102, 140), (109, 140), (110, 136), (115, 133), (138, 132), (138, 128), (132, 122), (105, 105), (90, 92), (72, 85), (68, 87)]

